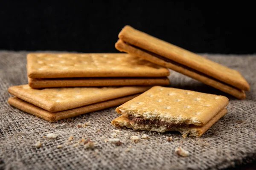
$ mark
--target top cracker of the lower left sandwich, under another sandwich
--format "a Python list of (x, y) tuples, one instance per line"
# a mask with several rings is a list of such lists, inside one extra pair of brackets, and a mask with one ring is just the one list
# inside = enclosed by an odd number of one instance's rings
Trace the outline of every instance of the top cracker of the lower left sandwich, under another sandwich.
[(110, 99), (141, 93), (148, 86), (102, 88), (44, 88), (33, 89), (29, 85), (8, 88), (10, 94), (50, 112), (64, 111)]

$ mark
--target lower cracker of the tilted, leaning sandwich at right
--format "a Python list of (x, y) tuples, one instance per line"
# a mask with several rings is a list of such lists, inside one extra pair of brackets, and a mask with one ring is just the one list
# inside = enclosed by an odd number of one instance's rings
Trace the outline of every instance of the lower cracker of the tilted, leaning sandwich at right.
[(238, 99), (244, 99), (245, 93), (243, 90), (240, 90), (238, 88), (235, 88), (231, 85), (228, 85), (224, 82), (219, 81), (218, 79), (214, 79), (212, 77), (207, 76), (206, 74), (203, 74), (199, 71), (193, 70), (191, 68), (188, 68), (184, 65), (177, 64), (175, 62), (165, 61), (163, 59), (160, 59), (156, 57), (155, 54), (148, 53), (146, 51), (143, 51), (142, 49), (135, 48), (132, 45), (129, 45), (122, 40), (118, 40), (116, 42), (116, 48), (119, 51), (125, 51), (131, 55), (141, 57), (143, 59), (147, 59), (150, 62), (153, 62), (157, 65), (162, 65), (164, 67), (170, 68), (174, 71), (177, 71), (181, 74), (184, 74), (186, 76), (192, 77), (193, 79), (196, 79), (198, 81), (201, 81), (209, 86), (212, 86), (214, 88), (217, 88), (221, 91), (226, 92), (227, 94), (230, 94), (232, 96), (235, 96)]

